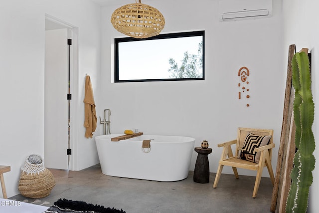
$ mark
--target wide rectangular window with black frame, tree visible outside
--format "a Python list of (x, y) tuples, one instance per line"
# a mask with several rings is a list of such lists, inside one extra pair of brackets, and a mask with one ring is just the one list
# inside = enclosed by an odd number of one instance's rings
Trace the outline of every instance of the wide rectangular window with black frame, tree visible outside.
[(204, 31), (115, 38), (115, 82), (204, 80)]

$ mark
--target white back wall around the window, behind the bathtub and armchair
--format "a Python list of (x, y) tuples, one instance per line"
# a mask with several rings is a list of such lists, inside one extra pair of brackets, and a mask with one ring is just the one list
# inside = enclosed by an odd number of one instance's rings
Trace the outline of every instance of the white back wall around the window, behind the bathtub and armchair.
[[(164, 15), (162, 33), (205, 30), (205, 80), (111, 83), (113, 38), (123, 35), (109, 20), (121, 3), (103, 7), (100, 108), (112, 111), (112, 133), (139, 128), (145, 134), (191, 136), (195, 146), (206, 139), (213, 148), (208, 156), (210, 172), (216, 172), (222, 151), (217, 143), (235, 139), (237, 127), (271, 128), (277, 145), (272, 162), (275, 171), (287, 72), (282, 66), (286, 59), (281, 54), (281, 2), (274, 1), (271, 18), (236, 22), (219, 22), (217, 0), (144, 3)], [(238, 100), (237, 74), (242, 66), (250, 70), (250, 107)], [(190, 170), (196, 157), (193, 152)], [(223, 173), (232, 170), (224, 168)], [(267, 170), (263, 175), (268, 176)]]

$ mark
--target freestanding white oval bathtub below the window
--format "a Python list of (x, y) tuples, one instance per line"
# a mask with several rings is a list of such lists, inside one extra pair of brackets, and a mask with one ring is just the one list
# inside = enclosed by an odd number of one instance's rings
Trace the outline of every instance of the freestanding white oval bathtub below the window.
[[(163, 182), (187, 178), (194, 138), (141, 135), (127, 140), (111, 141), (111, 138), (120, 135), (95, 137), (103, 174)], [(151, 140), (149, 153), (142, 149), (143, 140)]]

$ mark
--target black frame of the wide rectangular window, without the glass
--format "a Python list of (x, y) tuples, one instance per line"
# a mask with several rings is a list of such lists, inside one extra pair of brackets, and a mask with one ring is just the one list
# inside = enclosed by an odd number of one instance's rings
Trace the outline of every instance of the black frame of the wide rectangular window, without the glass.
[[(203, 76), (200, 78), (161, 78), (161, 79), (132, 79), (132, 80), (119, 80), (119, 43), (132, 42), (141, 40), (155, 40), (165, 38), (179, 38), (179, 37), (191, 37), (191, 36), (202, 36), (203, 37)], [(190, 31), (190, 32), (177, 32), (177, 33), (165, 33), (153, 36), (150, 38), (133, 38), (133, 37), (122, 37), (114, 38), (114, 82), (145, 82), (145, 81), (189, 81), (189, 80), (205, 80), (205, 30)]]

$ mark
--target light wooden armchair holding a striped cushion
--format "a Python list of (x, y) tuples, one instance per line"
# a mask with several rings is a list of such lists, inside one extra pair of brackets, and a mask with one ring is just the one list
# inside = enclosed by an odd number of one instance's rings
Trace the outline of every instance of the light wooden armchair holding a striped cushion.
[[(243, 160), (240, 157), (242, 148), (243, 148), (245, 140), (246, 140), (246, 136), (249, 133), (251, 133), (253, 135), (257, 135), (257, 136), (269, 136), (269, 135), (271, 135), (271, 138), (269, 139), (268, 145), (262, 146), (262, 144), (260, 144), (261, 146), (259, 146), (258, 148), (255, 148), (255, 150), (254, 150), (254, 153), (256, 153), (256, 154), (258, 152), (260, 152), (259, 163), (258, 163), (258, 161), (257, 161), (257, 163), (249, 161), (249, 160), (257, 160), (256, 158), (255, 159), (251, 159), (250, 157), (248, 157), (250, 159)], [(272, 165), (271, 165), (272, 148), (275, 147), (275, 144), (273, 144), (273, 135), (274, 135), (274, 131), (273, 130), (238, 128), (237, 139), (236, 140), (229, 141), (229, 142), (226, 142), (226, 143), (223, 143), (223, 144), (218, 144), (218, 147), (224, 147), (224, 149), (223, 149), (220, 161), (219, 161), (219, 165), (218, 165), (218, 169), (217, 169), (217, 173), (216, 173), (216, 177), (215, 177), (213, 188), (217, 187), (217, 184), (218, 184), (218, 181), (219, 181), (219, 178), (220, 178), (220, 175), (221, 175), (221, 171), (223, 170), (224, 166), (232, 167), (236, 179), (239, 178), (238, 177), (237, 168), (257, 171), (255, 187), (254, 187), (254, 191), (253, 191), (253, 198), (256, 198), (257, 191), (258, 191), (259, 184), (260, 184), (260, 180), (261, 180), (261, 176), (262, 176), (262, 173), (263, 173), (263, 169), (266, 166), (267, 166), (267, 169), (268, 169), (268, 172), (269, 172), (269, 175), (270, 175), (270, 179), (271, 179), (271, 181), (272, 181), (272, 183), (274, 185), (275, 178), (274, 178), (273, 168), (272, 168)], [(252, 144), (254, 144), (253, 146), (256, 146), (256, 144), (258, 144), (261, 140), (263, 140), (263, 139), (260, 139), (260, 140), (257, 139), (257, 136), (255, 137), (256, 140), (255, 139), (251, 139), (250, 140), (250, 139), (248, 139), (248, 137), (247, 137), (247, 140), (248, 141), (252, 141)], [(258, 138), (260, 138), (260, 137), (258, 137)], [(263, 143), (265, 144), (265, 141)], [(233, 155), (233, 152), (232, 152), (232, 149), (231, 149), (231, 145), (232, 144), (236, 144), (235, 155)], [(246, 143), (246, 145), (247, 145), (247, 143)], [(244, 150), (245, 151), (247, 150), (247, 146), (244, 147)], [(247, 155), (243, 154), (243, 153), (245, 153), (244, 150), (242, 152), (242, 157), (243, 158), (247, 157)], [(254, 158), (256, 156), (252, 155), (251, 157)]]

